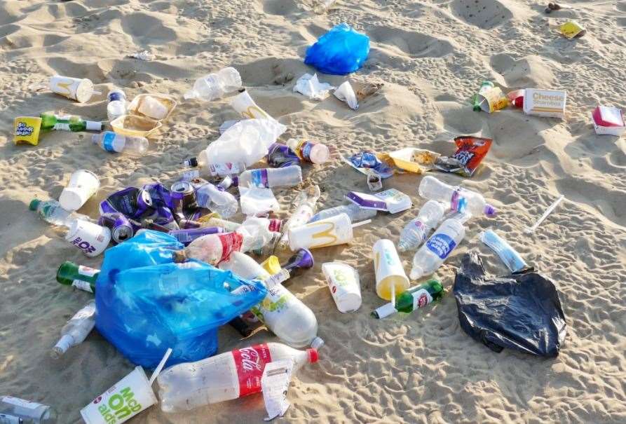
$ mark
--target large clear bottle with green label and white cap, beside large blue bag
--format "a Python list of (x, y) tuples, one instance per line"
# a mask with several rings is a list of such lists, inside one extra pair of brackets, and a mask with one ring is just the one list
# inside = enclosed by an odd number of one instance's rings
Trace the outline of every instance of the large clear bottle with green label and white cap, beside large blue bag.
[[(241, 278), (270, 278), (257, 261), (243, 253), (231, 254), (229, 261), (220, 264), (220, 268), (233, 271)], [(309, 345), (320, 348), (324, 344), (317, 336), (318, 320), (313, 311), (282, 284), (268, 288), (265, 299), (251, 310), (273, 334), (294, 348)]]

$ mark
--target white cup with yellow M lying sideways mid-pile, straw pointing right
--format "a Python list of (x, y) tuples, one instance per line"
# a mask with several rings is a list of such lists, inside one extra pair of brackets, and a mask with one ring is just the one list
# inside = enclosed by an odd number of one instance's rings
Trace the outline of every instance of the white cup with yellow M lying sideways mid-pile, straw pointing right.
[(289, 228), (289, 247), (294, 252), (298, 249), (343, 245), (351, 242), (353, 238), (352, 222), (348, 214), (339, 214)]

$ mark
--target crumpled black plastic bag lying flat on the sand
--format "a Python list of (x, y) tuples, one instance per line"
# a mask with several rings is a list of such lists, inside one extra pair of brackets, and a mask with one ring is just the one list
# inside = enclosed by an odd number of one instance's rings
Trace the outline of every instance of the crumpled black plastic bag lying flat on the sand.
[(488, 278), (478, 252), (471, 251), (456, 271), (454, 297), (463, 331), (494, 352), (559, 355), (565, 314), (554, 284), (539, 273)]

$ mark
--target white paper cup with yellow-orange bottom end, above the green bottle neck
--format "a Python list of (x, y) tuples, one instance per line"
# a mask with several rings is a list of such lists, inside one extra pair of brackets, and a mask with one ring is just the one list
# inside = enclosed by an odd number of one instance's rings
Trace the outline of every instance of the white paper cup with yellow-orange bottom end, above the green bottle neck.
[(391, 240), (381, 239), (372, 247), (374, 272), (376, 273), (376, 294), (381, 299), (390, 301), (392, 287), (395, 287), (397, 297), (409, 288), (409, 278), (404, 273), (402, 261), (397, 256), (395, 245)]

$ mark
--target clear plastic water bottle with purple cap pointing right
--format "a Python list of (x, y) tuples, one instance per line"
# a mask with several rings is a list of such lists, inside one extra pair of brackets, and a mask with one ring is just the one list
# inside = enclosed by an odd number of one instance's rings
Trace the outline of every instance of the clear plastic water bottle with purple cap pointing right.
[(482, 194), (459, 186), (449, 186), (430, 175), (423, 177), (419, 184), (419, 195), (429, 200), (447, 203), (451, 210), (466, 211), (474, 217), (482, 214), (493, 217), (496, 214), (496, 208), (486, 203)]

